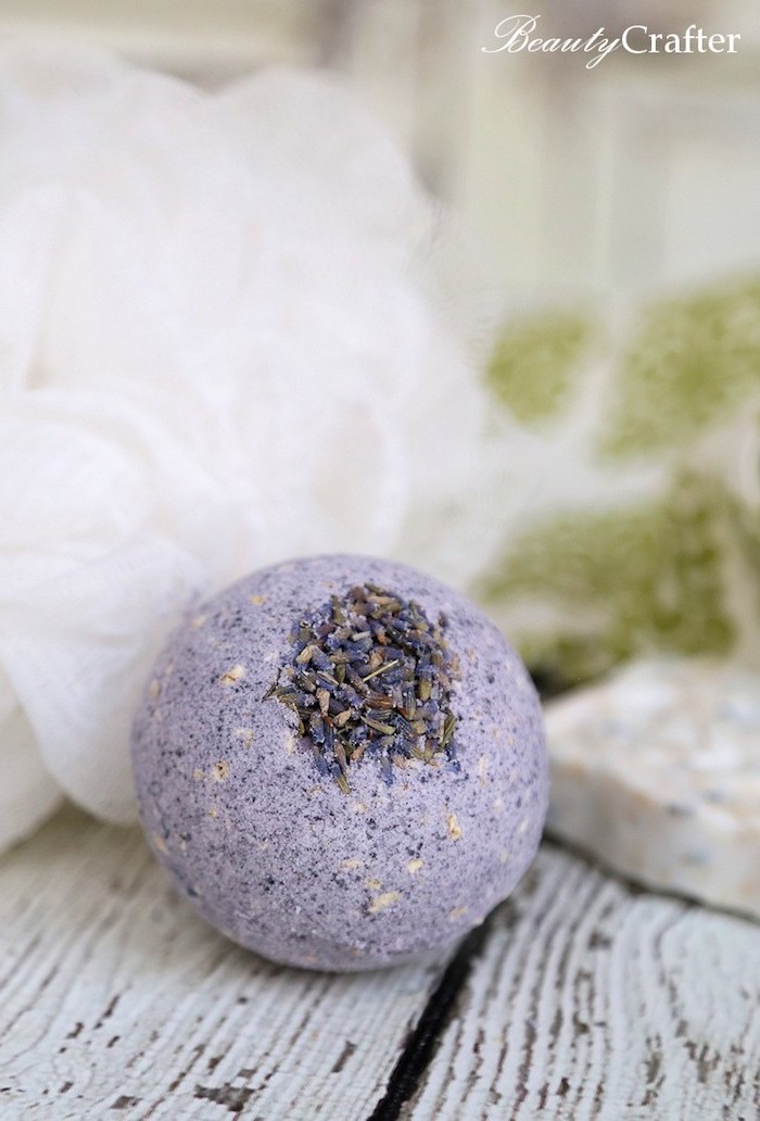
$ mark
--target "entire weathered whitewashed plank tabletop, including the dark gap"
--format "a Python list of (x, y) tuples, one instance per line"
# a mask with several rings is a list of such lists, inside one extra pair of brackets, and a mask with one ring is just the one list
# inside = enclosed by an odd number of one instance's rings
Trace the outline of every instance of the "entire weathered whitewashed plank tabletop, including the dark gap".
[(0, 1118), (760, 1117), (760, 927), (552, 844), (448, 962), (332, 976), (205, 926), (137, 830), (0, 860)]

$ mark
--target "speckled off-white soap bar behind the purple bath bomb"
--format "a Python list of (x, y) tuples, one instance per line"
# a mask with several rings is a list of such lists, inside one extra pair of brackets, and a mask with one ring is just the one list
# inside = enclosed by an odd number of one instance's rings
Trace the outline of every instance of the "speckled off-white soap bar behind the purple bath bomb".
[(652, 659), (546, 708), (550, 832), (647, 887), (760, 918), (760, 678)]

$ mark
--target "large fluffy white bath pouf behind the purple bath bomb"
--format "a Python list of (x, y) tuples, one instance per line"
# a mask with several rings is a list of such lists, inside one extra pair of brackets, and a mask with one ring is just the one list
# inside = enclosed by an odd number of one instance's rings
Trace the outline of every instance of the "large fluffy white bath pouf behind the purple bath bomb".
[(333, 78), (3, 47), (0, 844), (57, 790), (135, 817), (131, 714), (192, 597), (323, 550), (486, 564), (470, 265)]

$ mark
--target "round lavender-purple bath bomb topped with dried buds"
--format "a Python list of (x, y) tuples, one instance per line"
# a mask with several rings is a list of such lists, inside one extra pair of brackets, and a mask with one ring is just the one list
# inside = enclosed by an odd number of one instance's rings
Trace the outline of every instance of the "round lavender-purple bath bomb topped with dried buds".
[(158, 860), (229, 937), (374, 969), (512, 890), (548, 778), (532, 683), (467, 600), (386, 560), (254, 573), (173, 634), (132, 735)]

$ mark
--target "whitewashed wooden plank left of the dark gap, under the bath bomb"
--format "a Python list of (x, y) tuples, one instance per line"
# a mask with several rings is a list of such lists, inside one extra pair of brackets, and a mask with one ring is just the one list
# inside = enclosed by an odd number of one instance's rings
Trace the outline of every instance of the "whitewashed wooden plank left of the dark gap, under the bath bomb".
[(359, 1121), (439, 973), (270, 965), (68, 810), (0, 861), (0, 1118)]

